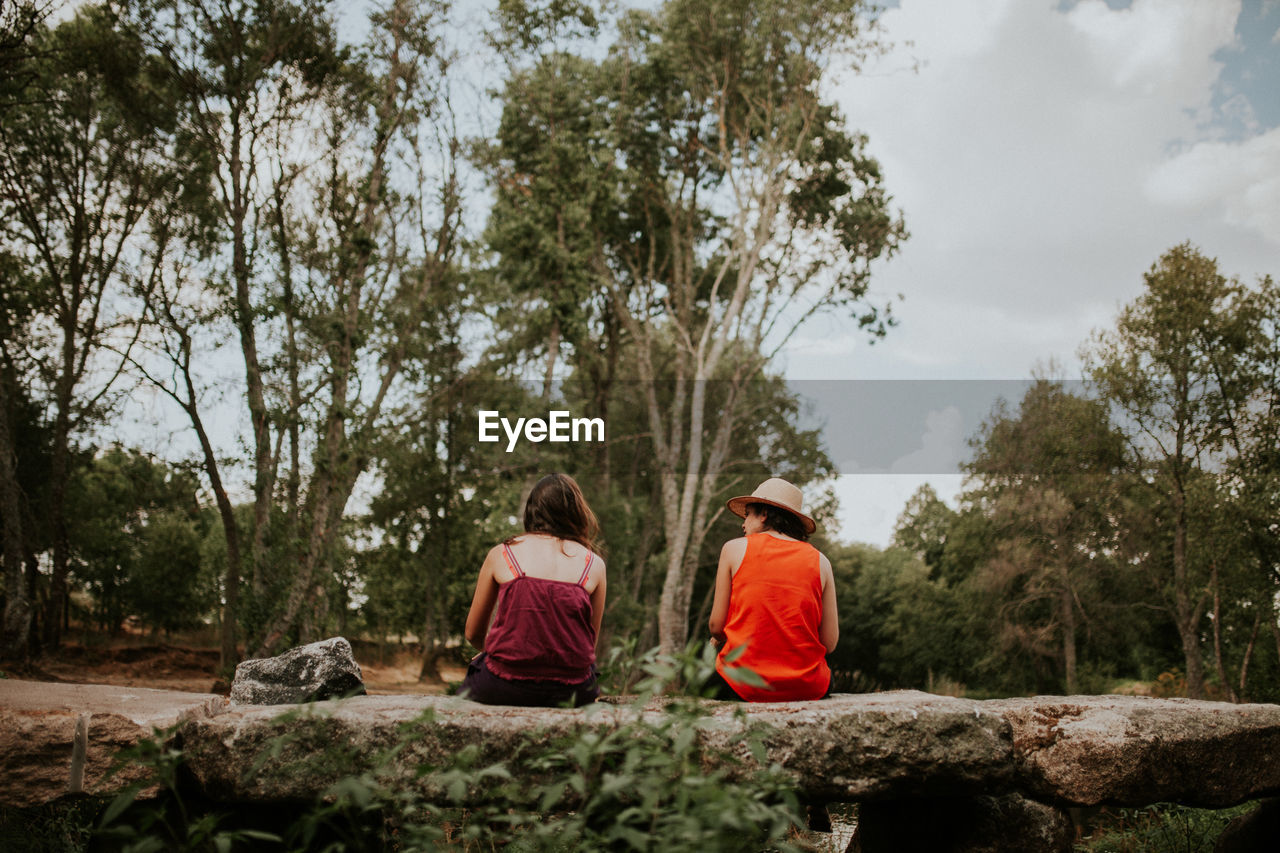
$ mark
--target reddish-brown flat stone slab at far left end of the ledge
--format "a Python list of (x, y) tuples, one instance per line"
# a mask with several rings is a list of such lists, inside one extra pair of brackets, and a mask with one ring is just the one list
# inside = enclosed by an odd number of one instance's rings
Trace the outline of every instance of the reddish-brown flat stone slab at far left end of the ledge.
[(145, 781), (137, 766), (106, 777), (119, 751), (227, 707), (202, 693), (0, 679), (0, 803), (37, 806)]

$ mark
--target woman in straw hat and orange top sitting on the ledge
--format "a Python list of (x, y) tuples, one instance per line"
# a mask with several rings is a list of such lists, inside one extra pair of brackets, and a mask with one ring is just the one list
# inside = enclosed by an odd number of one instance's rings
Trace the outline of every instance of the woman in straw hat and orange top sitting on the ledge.
[[(831, 561), (809, 544), (804, 496), (772, 478), (728, 501), (742, 537), (724, 543), (710, 631), (719, 647), (718, 695), (746, 702), (819, 699), (831, 692), (826, 656), (840, 639)], [(753, 675), (754, 674), (754, 675)]]

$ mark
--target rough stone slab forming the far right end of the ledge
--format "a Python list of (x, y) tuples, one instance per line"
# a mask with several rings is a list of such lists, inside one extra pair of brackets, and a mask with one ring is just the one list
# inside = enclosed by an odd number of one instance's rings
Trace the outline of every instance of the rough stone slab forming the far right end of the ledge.
[(1217, 808), (1280, 792), (1280, 706), (1126, 695), (982, 704), (1012, 726), (1019, 788), (1037, 799)]

